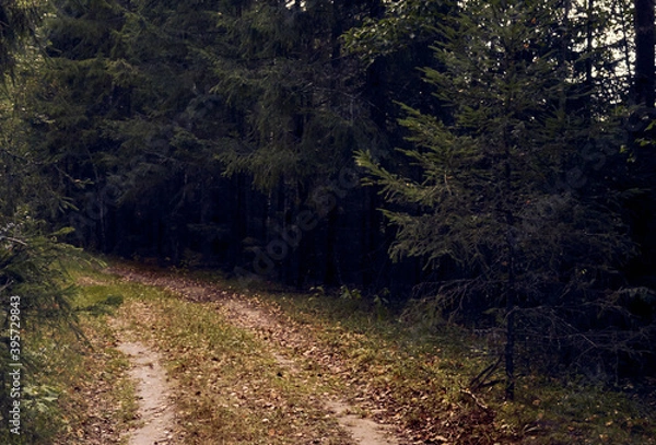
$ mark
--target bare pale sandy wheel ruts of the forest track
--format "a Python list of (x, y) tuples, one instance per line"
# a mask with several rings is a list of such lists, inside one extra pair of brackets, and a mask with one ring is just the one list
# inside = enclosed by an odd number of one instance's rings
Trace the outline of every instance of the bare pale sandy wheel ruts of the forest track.
[[(118, 274), (124, 280), (139, 282), (147, 285), (164, 288), (190, 301), (218, 301), (229, 311), (227, 320), (235, 326), (251, 331), (265, 331), (267, 341), (276, 343), (277, 347), (298, 348), (309, 347), (317, 356), (326, 356), (312, 339), (306, 338), (303, 332), (284, 325), (282, 317), (268, 313), (259, 307), (251, 298), (234, 292), (215, 288), (211, 284), (194, 281), (184, 277), (173, 276), (165, 271), (137, 271), (126, 267), (113, 267), (109, 273)], [(261, 336), (260, 336), (261, 338)], [(273, 349), (273, 348), (272, 348)], [(139, 417), (143, 425), (130, 435), (129, 445), (166, 445), (169, 432), (173, 430), (174, 410), (169, 400), (171, 390), (164, 371), (156, 352), (141, 343), (120, 343), (119, 350), (129, 356), (132, 362), (131, 377), (137, 382), (138, 397), (140, 399)], [(294, 374), (297, 364), (290, 359), (283, 358), (276, 352), (272, 355), (281, 366)], [(339, 367), (339, 359), (331, 358), (327, 364)], [(358, 412), (354, 406), (345, 400), (329, 400), (325, 403), (327, 415), (333, 415), (341, 428), (352, 437), (353, 445), (402, 445), (395, 437), (393, 428), (353, 414)]]

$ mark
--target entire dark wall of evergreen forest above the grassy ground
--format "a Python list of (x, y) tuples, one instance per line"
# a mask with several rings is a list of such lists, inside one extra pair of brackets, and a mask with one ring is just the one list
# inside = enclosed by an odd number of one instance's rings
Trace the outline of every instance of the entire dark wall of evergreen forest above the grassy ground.
[(4, 1), (0, 19), (3, 295), (65, 243), (413, 298), (411, 319), (502, 332), (508, 395), (517, 352), (653, 374), (653, 1)]

